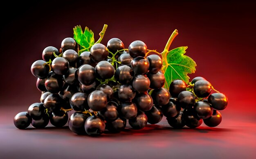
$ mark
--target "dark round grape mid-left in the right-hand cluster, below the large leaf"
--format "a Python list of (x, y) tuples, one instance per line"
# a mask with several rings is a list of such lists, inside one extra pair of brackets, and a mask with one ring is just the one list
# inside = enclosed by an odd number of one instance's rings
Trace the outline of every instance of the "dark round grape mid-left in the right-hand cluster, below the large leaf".
[(195, 105), (195, 97), (190, 91), (182, 91), (178, 96), (178, 103), (180, 107), (186, 109)]

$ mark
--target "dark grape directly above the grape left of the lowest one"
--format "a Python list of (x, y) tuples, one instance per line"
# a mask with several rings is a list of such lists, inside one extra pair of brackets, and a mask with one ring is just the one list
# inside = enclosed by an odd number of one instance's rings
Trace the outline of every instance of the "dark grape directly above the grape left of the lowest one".
[(85, 93), (77, 92), (70, 98), (70, 105), (74, 111), (88, 110), (88, 95)]

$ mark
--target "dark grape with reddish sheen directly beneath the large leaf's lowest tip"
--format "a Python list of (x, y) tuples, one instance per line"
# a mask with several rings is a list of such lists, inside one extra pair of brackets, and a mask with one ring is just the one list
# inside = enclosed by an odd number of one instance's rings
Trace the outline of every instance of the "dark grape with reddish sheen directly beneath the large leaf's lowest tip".
[(170, 92), (165, 88), (154, 89), (151, 97), (155, 105), (166, 105), (171, 97)]

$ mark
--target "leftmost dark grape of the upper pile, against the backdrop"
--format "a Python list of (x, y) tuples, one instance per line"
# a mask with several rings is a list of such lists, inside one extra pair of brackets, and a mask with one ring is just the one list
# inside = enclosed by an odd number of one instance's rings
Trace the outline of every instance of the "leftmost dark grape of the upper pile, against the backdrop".
[(31, 73), (37, 78), (46, 78), (49, 73), (49, 65), (43, 60), (37, 60), (31, 65)]

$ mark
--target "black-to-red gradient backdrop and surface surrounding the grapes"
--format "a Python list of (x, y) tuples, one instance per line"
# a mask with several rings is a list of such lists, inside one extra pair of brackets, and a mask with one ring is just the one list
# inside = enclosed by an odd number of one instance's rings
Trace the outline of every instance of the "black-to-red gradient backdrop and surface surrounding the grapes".
[[(30, 155), (37, 154), (39, 150), (36, 148), (39, 148), (40, 144), (47, 144), (44, 142), (45, 133), (49, 136), (61, 134), (59, 140), (54, 139), (55, 146), (69, 142), (81, 146), (74, 142), (77, 140), (79, 143), (81, 137), (75, 136), (68, 128), (20, 131), (14, 127), (12, 120), (18, 112), (26, 111), (29, 105), (39, 101), (40, 92), (36, 88), (36, 78), (31, 74), (30, 66), (34, 61), (42, 58), (43, 49), (47, 46), (60, 48), (61, 41), (65, 37), (73, 37), (72, 28), (76, 25), (81, 25), (82, 28), (88, 26), (94, 31), (94, 38), (97, 40), (103, 24), (108, 24), (108, 29), (102, 44), (106, 45), (110, 38), (117, 37), (128, 48), (132, 41), (139, 39), (146, 43), (148, 49), (157, 49), (159, 52), (163, 50), (173, 30), (177, 29), (179, 35), (173, 41), (171, 49), (189, 46), (186, 55), (197, 63), (196, 73), (189, 76), (205, 77), (218, 91), (227, 95), (229, 105), (227, 109), (221, 111), (222, 123), (216, 129), (209, 129), (202, 125), (197, 130), (184, 129), (170, 132), (166, 120), (163, 120), (164, 126), (160, 126), (162, 129), (159, 131), (157, 126), (149, 125), (141, 131), (129, 130), (125, 132), (126, 135), (115, 135), (115, 139), (112, 139), (112, 135), (103, 135), (108, 136), (106, 138), (86, 137), (84, 139), (82, 137), (85, 142), (89, 140), (94, 146), (102, 146), (106, 152), (104, 151), (101, 155), (112, 158), (118, 158), (122, 153), (129, 155), (128, 158), (142, 157), (141, 154), (137, 155), (136, 145), (140, 146), (138, 148), (144, 148), (142, 152), (145, 152), (149, 158), (154, 157), (153, 148), (166, 150), (156, 152), (157, 154), (160, 152), (162, 157), (169, 156), (171, 150), (181, 152), (181, 154), (173, 154), (181, 158), (188, 157), (189, 153), (194, 157), (208, 158), (214, 158), (216, 155), (217, 157), (222, 155), (238, 157), (239, 154), (240, 157), (251, 158), (255, 155), (253, 149), (256, 145), (252, 141), (256, 139), (256, 102), (254, 101), (256, 95), (254, 82), (256, 78), (256, 4), (227, 0), (222, 2), (199, 0), (136, 2), (132, 0), (108, 3), (88, 1), (7, 3), (9, 5), (1, 5), (0, 9), (2, 22), (0, 26), (0, 124), (2, 129), (0, 137), (4, 141), (1, 141), (3, 145), (0, 146), (0, 156), (5, 157), (9, 154), (8, 157), (15, 157), (9, 152), (26, 154), (27, 149), (32, 149)], [(4, 8), (8, 11), (3, 11)], [(150, 132), (149, 135), (141, 137), (140, 134), (146, 131)], [(161, 139), (156, 138), (159, 134), (162, 134)], [(174, 138), (172, 138), (173, 134)], [(65, 135), (70, 135), (71, 138), (75, 136), (73, 142)], [(198, 137), (198, 135), (201, 136)], [(31, 138), (37, 142), (31, 142), (29, 140)], [(66, 142), (65, 139), (67, 139)], [(119, 139), (120, 142), (114, 142)], [(138, 143), (133, 142), (133, 139)], [(30, 147), (25, 146), (20, 149), (22, 143), (28, 140)], [(128, 142), (130, 140), (133, 144)], [(140, 140), (144, 142), (151, 140), (152, 149), (143, 144), (140, 145)], [(181, 142), (186, 143), (186, 146)], [(104, 147), (109, 143), (112, 143), (112, 147), (116, 149), (121, 148), (120, 152), (113, 155), (112, 150)], [(150, 143), (147, 143), (147, 146), (150, 146)], [(183, 146), (183, 150), (177, 150), (177, 145)], [(47, 146), (44, 148), (47, 149)], [(66, 152), (68, 148), (65, 146), (61, 148), (64, 154), (62, 155), (69, 157)], [(127, 151), (127, 148), (132, 148), (129, 149), (131, 152)], [(208, 152), (208, 148), (212, 149)], [(89, 149), (94, 156), (102, 157), (93, 149), (93, 146)], [(75, 146), (74, 150), (77, 150)], [(69, 152), (74, 150), (71, 148)], [(187, 156), (183, 153), (186, 151)], [(78, 155), (83, 154), (83, 152), (74, 152)], [(236, 154), (236, 152), (239, 153)], [(54, 151), (52, 153), (54, 154)], [(43, 158), (44, 155), (41, 157)], [(72, 157), (71, 154), (70, 157)]]

